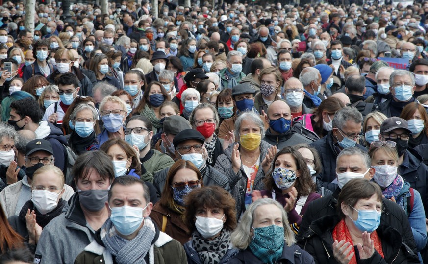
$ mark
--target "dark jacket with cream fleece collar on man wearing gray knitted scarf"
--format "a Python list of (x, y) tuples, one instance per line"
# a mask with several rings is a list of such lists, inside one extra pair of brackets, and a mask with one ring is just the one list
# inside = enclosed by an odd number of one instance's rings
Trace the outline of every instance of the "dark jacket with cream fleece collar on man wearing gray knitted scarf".
[[(160, 263), (175, 263), (175, 264), (187, 264), (186, 253), (183, 247), (177, 241), (172, 239), (167, 234), (160, 232), (156, 227), (156, 235), (154, 241), (151, 242), (149, 248), (149, 263), (148, 264), (160, 264)], [(75, 264), (115, 264), (117, 263), (113, 255), (106, 250), (104, 244), (99, 238), (99, 231), (97, 231), (95, 238), (92, 243), (85, 247), (84, 251), (80, 253)]]

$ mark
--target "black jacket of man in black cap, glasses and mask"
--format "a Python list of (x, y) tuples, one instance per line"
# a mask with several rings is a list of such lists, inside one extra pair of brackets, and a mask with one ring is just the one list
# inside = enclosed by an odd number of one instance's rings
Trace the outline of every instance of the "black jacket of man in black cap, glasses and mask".
[[(221, 156), (220, 156), (221, 157)], [(161, 171), (155, 172), (153, 176), (153, 185), (156, 187), (157, 195), (160, 199), (160, 196), (163, 192), (165, 186), (166, 178), (170, 168), (165, 168)], [(215, 170), (209, 165), (206, 165), (204, 168), (200, 169), (203, 186), (220, 186), (225, 189), (227, 192), (230, 192), (229, 180), (225, 175), (222, 175), (220, 172)]]

